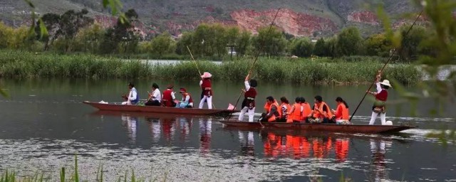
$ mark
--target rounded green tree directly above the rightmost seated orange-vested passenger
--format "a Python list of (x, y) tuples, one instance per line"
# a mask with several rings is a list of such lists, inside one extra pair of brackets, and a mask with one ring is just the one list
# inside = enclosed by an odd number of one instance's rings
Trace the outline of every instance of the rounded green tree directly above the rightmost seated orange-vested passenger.
[(338, 55), (356, 55), (362, 41), (358, 28), (344, 28), (337, 36), (336, 47)]

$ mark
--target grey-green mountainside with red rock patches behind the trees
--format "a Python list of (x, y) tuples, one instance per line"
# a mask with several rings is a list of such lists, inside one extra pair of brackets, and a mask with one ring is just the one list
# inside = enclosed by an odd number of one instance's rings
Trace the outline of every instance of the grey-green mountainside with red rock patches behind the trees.
[[(62, 14), (70, 9), (88, 9), (103, 26), (115, 18), (103, 9), (101, 0), (32, 0), (36, 12)], [(375, 9), (383, 6), (393, 23), (403, 23), (401, 14), (415, 12), (408, 0), (123, 0), (123, 8), (135, 9), (145, 33), (168, 31), (177, 36), (199, 23), (223, 23), (256, 32), (271, 23), (294, 36), (331, 36), (346, 26), (358, 26), (363, 34), (381, 30)], [(31, 9), (24, 0), (1, 0), (0, 21), (12, 26), (30, 24)]]

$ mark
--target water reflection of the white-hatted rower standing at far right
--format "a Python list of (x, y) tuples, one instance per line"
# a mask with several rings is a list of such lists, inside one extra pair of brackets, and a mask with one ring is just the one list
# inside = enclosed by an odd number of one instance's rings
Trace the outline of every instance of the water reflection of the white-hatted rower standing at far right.
[(372, 163), (370, 181), (383, 181), (387, 179), (388, 166), (385, 162), (385, 141), (371, 139)]

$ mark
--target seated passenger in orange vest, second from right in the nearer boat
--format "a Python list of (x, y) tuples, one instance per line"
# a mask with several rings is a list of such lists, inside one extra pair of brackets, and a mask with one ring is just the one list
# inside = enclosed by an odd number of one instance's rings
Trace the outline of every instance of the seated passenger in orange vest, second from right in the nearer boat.
[(334, 123), (332, 122), (333, 114), (326, 102), (320, 95), (315, 96), (315, 105), (312, 108), (311, 114), (307, 116), (310, 123)]

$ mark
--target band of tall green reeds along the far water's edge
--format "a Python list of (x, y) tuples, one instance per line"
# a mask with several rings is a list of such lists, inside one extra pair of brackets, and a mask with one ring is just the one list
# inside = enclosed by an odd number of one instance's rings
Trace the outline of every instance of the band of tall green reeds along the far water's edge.
[[(306, 84), (361, 84), (371, 82), (382, 63), (376, 59), (347, 62), (320, 58), (258, 60), (254, 78), (272, 82), (295, 82)], [(227, 61), (217, 65), (198, 61), (199, 69), (209, 71), (214, 80), (243, 80), (252, 66), (252, 59)], [(0, 50), (0, 77), (88, 77), (88, 78), (142, 78), (152, 77), (168, 80), (197, 80), (197, 68), (193, 62), (176, 65), (145, 64), (139, 60), (120, 60), (95, 55), (56, 55), (30, 53), (16, 50)], [(385, 77), (403, 84), (421, 80), (415, 65), (390, 65)]]

